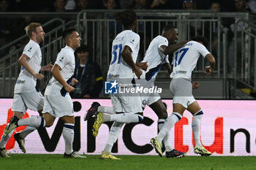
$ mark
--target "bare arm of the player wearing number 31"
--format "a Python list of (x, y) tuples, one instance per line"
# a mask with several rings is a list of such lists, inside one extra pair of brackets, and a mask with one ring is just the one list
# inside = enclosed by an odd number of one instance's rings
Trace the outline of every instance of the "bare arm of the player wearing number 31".
[(121, 52), (121, 55), (124, 58), (124, 61), (132, 68), (133, 72), (135, 72), (138, 79), (140, 79), (140, 75), (142, 74), (142, 72), (132, 60), (132, 49), (127, 45), (124, 46), (124, 50)]

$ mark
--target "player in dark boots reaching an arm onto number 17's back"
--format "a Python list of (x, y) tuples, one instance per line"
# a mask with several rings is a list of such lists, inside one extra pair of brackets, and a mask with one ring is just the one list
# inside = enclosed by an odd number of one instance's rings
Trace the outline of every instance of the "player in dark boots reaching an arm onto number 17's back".
[[(165, 66), (167, 71), (171, 72), (171, 66), (168, 61), (168, 55), (173, 54), (174, 51), (182, 47), (187, 43), (180, 42), (176, 44), (178, 40), (178, 30), (177, 28), (167, 25), (162, 29), (162, 35), (155, 37), (146, 51), (146, 55), (141, 63), (147, 63), (148, 69), (141, 75), (141, 80), (138, 81), (139, 84), (146, 85), (147, 88), (154, 87), (154, 81), (157, 77), (158, 71), (162, 66)], [(170, 44), (168, 46), (168, 44)], [(159, 93), (150, 93), (149, 95), (143, 94), (141, 96), (141, 104), (143, 109), (146, 105), (151, 107), (157, 114), (158, 128), (162, 129), (162, 125), (167, 119), (167, 110), (165, 105), (159, 96)], [(89, 115), (94, 115), (95, 112), (108, 112), (110, 114), (115, 114), (112, 107), (99, 107), (99, 103), (94, 102), (91, 108), (88, 110), (85, 116), (85, 120), (88, 119)], [(186, 155), (184, 152), (178, 152), (170, 146), (170, 134), (167, 134), (165, 139), (163, 139), (166, 150), (167, 158), (181, 158)]]

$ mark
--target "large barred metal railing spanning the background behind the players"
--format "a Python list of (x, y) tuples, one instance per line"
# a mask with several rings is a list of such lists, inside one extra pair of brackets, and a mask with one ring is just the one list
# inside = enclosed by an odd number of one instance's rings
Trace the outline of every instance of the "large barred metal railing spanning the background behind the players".
[[(51, 15), (51, 17), (59, 16), (60, 18), (70, 15), (72, 16), (72, 19), (76, 18), (76, 21), (69, 22), (69, 26), (77, 26), (80, 36), (82, 37), (82, 43), (89, 45), (91, 48), (92, 60), (101, 66), (103, 75), (106, 75), (111, 58), (112, 39), (122, 30), (122, 27), (116, 23), (116, 20), (113, 18), (114, 12), (118, 12), (118, 10), (84, 10), (79, 13), (64, 12), (57, 14), (40, 13), (39, 15), (37, 14), (37, 18), (40, 18), (40, 15), (42, 15), (42, 18), (49, 15)], [(227, 68), (228, 47), (230, 46), (228, 35), (230, 33), (230, 28), (226, 19), (237, 20), (236, 18), (244, 18), (244, 20), (249, 20), (249, 13), (216, 13), (208, 10), (137, 10), (136, 13), (138, 15), (137, 32), (140, 34), (140, 54), (138, 61), (143, 59), (143, 55), (146, 52), (146, 48), (151, 42), (151, 39), (161, 34), (162, 27), (166, 24), (172, 24), (178, 28), (179, 41), (192, 39), (192, 36), (203, 34), (210, 42), (208, 50), (216, 57), (217, 66), (214, 70), (214, 74), (210, 77), (205, 77), (203, 70), (206, 63), (204, 58), (200, 58), (193, 77), (203, 81), (216, 80), (221, 82), (222, 98), (236, 97), (232, 95), (233, 93), (230, 93), (230, 90), (232, 89), (230, 89), (230, 74)], [(20, 15), (20, 13), (17, 15)], [(59, 23), (58, 26), (51, 29), (53, 33), (56, 32), (57, 36), (49, 36), (48, 33), (50, 31), (46, 31), (48, 38), (45, 39), (45, 42), (43, 42), (41, 46), (42, 55), (44, 55), (42, 65), (45, 65), (49, 61), (55, 61), (56, 54), (64, 45), (59, 36), (59, 32), (62, 31), (65, 26), (67, 26), (67, 23), (66, 25), (64, 23)], [(251, 24), (248, 26), (252, 27)], [(17, 41), (18, 40), (15, 42)], [(0, 83), (1, 97), (13, 96), (13, 88), (19, 72), (18, 57), (20, 56), (22, 49), (23, 47), (20, 47), (18, 50), (12, 50), (11, 53), (15, 53), (15, 55), (12, 55), (11, 57), (10, 53), (0, 59), (0, 79), (3, 80)], [(12, 65), (9, 63), (12, 63)], [(164, 71), (159, 73), (159, 77), (161, 80), (168, 80)], [(45, 83), (47, 81), (48, 79), (45, 79), (43, 84), (46, 85)]]

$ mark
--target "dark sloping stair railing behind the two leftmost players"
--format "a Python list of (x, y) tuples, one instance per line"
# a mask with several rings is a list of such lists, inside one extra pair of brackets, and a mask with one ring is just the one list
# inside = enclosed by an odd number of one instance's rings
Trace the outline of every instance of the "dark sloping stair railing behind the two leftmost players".
[[(61, 39), (61, 32), (65, 27), (64, 20), (60, 18), (54, 18), (47, 23), (42, 24), (43, 28), (50, 27), (50, 31), (45, 34), (45, 41), (42, 42), (42, 66), (47, 63), (53, 62), (56, 58), (59, 49), (64, 46), (64, 42)], [(8, 54), (0, 58), (0, 96), (11, 97), (13, 96), (13, 88), (15, 86), (16, 79), (19, 74), (20, 65), (18, 58), (23, 51), (24, 45), (28, 42), (26, 35), (20, 36), (8, 45), (1, 47), (1, 51), (9, 50)], [(22, 44), (25, 42), (25, 44)], [(43, 73), (45, 74), (45, 73)], [(42, 86), (46, 86), (50, 74), (45, 74), (45, 79), (41, 81)]]

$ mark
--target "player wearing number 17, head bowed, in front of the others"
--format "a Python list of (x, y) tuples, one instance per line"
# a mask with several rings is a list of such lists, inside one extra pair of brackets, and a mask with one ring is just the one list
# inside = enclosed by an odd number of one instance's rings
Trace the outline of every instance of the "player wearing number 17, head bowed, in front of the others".
[(203, 111), (192, 95), (192, 71), (195, 69), (200, 55), (206, 58), (210, 66), (206, 66), (206, 74), (214, 71), (215, 59), (206, 49), (208, 41), (204, 36), (195, 36), (192, 41), (176, 50), (173, 55), (173, 72), (170, 82), (170, 92), (173, 94), (173, 114), (167, 118), (157, 137), (151, 139), (151, 144), (159, 155), (162, 155), (162, 140), (170, 132), (173, 125), (181, 120), (182, 115), (187, 109), (193, 115), (192, 130), (195, 138), (194, 152), (200, 155), (211, 155), (200, 142), (200, 122)]

